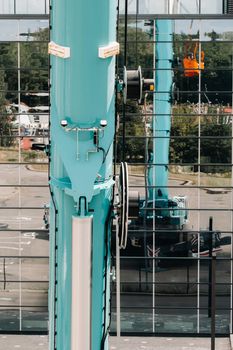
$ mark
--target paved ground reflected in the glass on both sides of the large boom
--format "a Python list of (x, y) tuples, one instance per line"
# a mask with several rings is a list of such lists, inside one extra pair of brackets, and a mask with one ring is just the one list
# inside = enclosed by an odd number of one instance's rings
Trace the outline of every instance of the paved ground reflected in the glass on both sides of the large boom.
[[(7, 174), (7, 176), (6, 176)], [(43, 207), (45, 203), (49, 201), (49, 192), (47, 188), (31, 187), (31, 188), (19, 188), (17, 187), (19, 181), (19, 175), (21, 175), (22, 183), (27, 185), (45, 185), (47, 184), (47, 174), (44, 172), (30, 171), (28, 168), (22, 166), (19, 171), (19, 167), (15, 164), (12, 165), (1, 165), (0, 166), (0, 184), (12, 185), (12, 187), (6, 187), (1, 189), (0, 194), (0, 223), (6, 223), (8, 230), (0, 232), (0, 256), (48, 256), (49, 253), (49, 242), (48, 235), (39, 232), (43, 228), (43, 214), (44, 211), (36, 209), (25, 209), (19, 211), (18, 209), (7, 209), (9, 207), (17, 207), (23, 205), (26, 207)], [(130, 177), (131, 186), (141, 186), (144, 184), (143, 178), (138, 176)], [(170, 189), (170, 194), (174, 195), (187, 195), (189, 198), (189, 208), (195, 209), (198, 204), (198, 190), (194, 188), (185, 187), (183, 181), (170, 180), (170, 186), (174, 188)], [(176, 188), (176, 186), (180, 186)], [(139, 187), (141, 194), (144, 190)], [(21, 196), (20, 196), (21, 194)], [(200, 190), (200, 204), (206, 208), (219, 208), (226, 209), (231, 206), (231, 193), (207, 193), (205, 190)], [(200, 226), (206, 228), (208, 226), (209, 215), (214, 216), (214, 228), (219, 230), (231, 230), (231, 216), (229, 212), (222, 211), (220, 214), (213, 211), (204, 211), (200, 215)], [(195, 211), (190, 211), (189, 229), (197, 229), (198, 220)], [(28, 229), (29, 232), (22, 233), (21, 229)], [(223, 234), (224, 235), (224, 234)], [(218, 253), (218, 256), (230, 257), (231, 247), (230, 245), (224, 246), (223, 250)], [(180, 305), (194, 306), (196, 307), (196, 265), (192, 265), (188, 268), (185, 266), (163, 268), (156, 271), (156, 281), (160, 282), (156, 286), (157, 293), (165, 294), (169, 291), (170, 296), (166, 298), (156, 299), (156, 306), (174, 306), (174, 300), (181, 300)], [(201, 265), (201, 276), (203, 281), (207, 281), (208, 269), (206, 265)], [(231, 276), (231, 265), (229, 263), (218, 264), (217, 281), (222, 283), (230, 283)], [(23, 284), (19, 284), (17, 281), (22, 278)], [(33, 281), (38, 280), (40, 283), (34, 283)], [(143, 288), (147, 288), (146, 281), (149, 286), (152, 281), (152, 273), (148, 270), (139, 270), (137, 268), (122, 269), (121, 272), (122, 282), (134, 283), (134, 290), (131, 292), (137, 292), (140, 289), (140, 293), (137, 293), (132, 297), (122, 295), (122, 306), (138, 305), (141, 307), (151, 307), (152, 305), (152, 294), (148, 295), (148, 291), (144, 293)], [(0, 310), (0, 330), (18, 330), (20, 321), (23, 330), (33, 328), (34, 330), (45, 330), (47, 328), (47, 289), (48, 289), (48, 259), (23, 259), (21, 264), (18, 263), (17, 259), (7, 258), (0, 259), (0, 305), (5, 307)], [(161, 283), (165, 283), (165, 285)], [(170, 284), (173, 282), (173, 284)], [(180, 284), (176, 282), (182, 282)], [(187, 283), (188, 282), (188, 283)], [(144, 283), (144, 284), (143, 284)], [(164, 287), (165, 286), (165, 287)], [(19, 288), (20, 287), (20, 288)], [(200, 287), (200, 292), (202, 292)], [(204, 287), (203, 287), (204, 288)], [(226, 289), (226, 287), (224, 287)], [(228, 288), (229, 289), (229, 288)], [(128, 289), (126, 290), (126, 292)], [(151, 292), (151, 291), (150, 291)], [(206, 291), (203, 290), (206, 296)], [(179, 298), (173, 297), (173, 294), (181, 295)], [(221, 293), (220, 293), (221, 294)], [(184, 298), (183, 296), (186, 295)], [(165, 300), (166, 299), (166, 300)], [(221, 308), (229, 308), (230, 291), (226, 289), (226, 295), (222, 293), (218, 296), (218, 306)], [(160, 302), (160, 304), (159, 304)], [(207, 298), (201, 298), (202, 305), (206, 307)], [(22, 313), (19, 313), (19, 305), (24, 305), (27, 308), (23, 309)], [(125, 311), (125, 310), (124, 310)], [(144, 312), (144, 310), (142, 310)], [(174, 311), (177, 315), (173, 315), (169, 311), (162, 312), (156, 311), (156, 317), (158, 322), (156, 327), (160, 327), (159, 331), (167, 332), (171, 330), (172, 325), (176, 325), (178, 331), (183, 332), (196, 332), (196, 310), (193, 310), (194, 315), (188, 316), (186, 311)], [(165, 315), (164, 315), (165, 313)], [(142, 325), (142, 317), (144, 323)], [(173, 322), (173, 318), (175, 322)], [(113, 317), (114, 319), (114, 317)], [(165, 322), (164, 322), (165, 319)], [(221, 329), (222, 333), (228, 332), (230, 313), (227, 311), (225, 314), (221, 313), (216, 319), (216, 325), (218, 330)], [(162, 321), (162, 322), (161, 322)], [(112, 323), (114, 327), (114, 320)], [(122, 327), (124, 331), (138, 330), (144, 327), (145, 330), (151, 331), (152, 327), (152, 316), (144, 313), (134, 313), (132, 310), (126, 310), (122, 312)], [(162, 327), (162, 329), (161, 329)], [(209, 322), (206, 315), (202, 315), (201, 330), (206, 332), (209, 331)], [(16, 344), (17, 345), (17, 344)], [(41, 345), (42, 346), (42, 345)], [(1, 349), (1, 346), (0, 346)], [(4, 347), (3, 347), (3, 350)], [(26, 349), (25, 349), (26, 350)]]

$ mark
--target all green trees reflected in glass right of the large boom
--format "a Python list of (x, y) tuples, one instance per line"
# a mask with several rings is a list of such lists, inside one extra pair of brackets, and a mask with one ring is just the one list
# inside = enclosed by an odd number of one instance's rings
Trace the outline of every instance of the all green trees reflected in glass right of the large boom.
[[(124, 28), (120, 27), (119, 40), (124, 42)], [(205, 52), (205, 69), (201, 73), (201, 106), (198, 106), (198, 83), (199, 78), (186, 78), (183, 76), (183, 68), (176, 65), (174, 68), (175, 79), (181, 91), (189, 93), (180, 93), (180, 100), (177, 101), (177, 109), (173, 113), (177, 117), (173, 118), (171, 134), (177, 138), (171, 139), (170, 143), (170, 161), (176, 163), (197, 163), (198, 161), (198, 117), (195, 115), (205, 115), (201, 123), (201, 135), (216, 137), (216, 142), (212, 138), (201, 140), (201, 157), (207, 159), (208, 163), (229, 163), (231, 156), (231, 140), (224, 139), (229, 136), (231, 124), (226, 123), (226, 118), (221, 117), (224, 105), (231, 105), (232, 75), (229, 71), (231, 68), (231, 52), (229, 44), (220, 41), (227, 38), (233, 38), (233, 32), (217, 33), (214, 30), (205, 33), (210, 38), (207, 42), (202, 42), (202, 50)], [(128, 25), (128, 46), (127, 46), (127, 68), (136, 69), (137, 65), (142, 66), (143, 73), (152, 77), (152, 67), (154, 59), (154, 44), (148, 44), (152, 38), (148, 32), (135, 28), (135, 23)], [(194, 45), (199, 39), (199, 32), (196, 34), (174, 34), (174, 57), (179, 57), (180, 61), (185, 52), (185, 42)], [(138, 43), (136, 44), (136, 40)], [(187, 45), (186, 45), (187, 46)], [(123, 67), (124, 50), (119, 57), (119, 67)], [(198, 57), (197, 57), (198, 58)], [(144, 68), (149, 68), (145, 71)], [(228, 69), (228, 70), (226, 70)], [(214, 91), (214, 93), (211, 93)], [(221, 91), (229, 91), (222, 93)], [(141, 110), (136, 104), (130, 103), (126, 116), (126, 133), (127, 135), (143, 136), (142, 118), (134, 114), (140, 114)], [(208, 117), (209, 114), (216, 114), (216, 117)], [(193, 114), (189, 117), (188, 114)], [(179, 117), (180, 116), (180, 117)], [(119, 136), (122, 130), (120, 129)], [(183, 138), (182, 138), (183, 136)], [(122, 156), (122, 140), (118, 143), (118, 160)], [(126, 153), (132, 160), (144, 160), (145, 141), (143, 139), (127, 139)], [(204, 168), (203, 168), (204, 169)], [(221, 171), (220, 168), (216, 171)]]

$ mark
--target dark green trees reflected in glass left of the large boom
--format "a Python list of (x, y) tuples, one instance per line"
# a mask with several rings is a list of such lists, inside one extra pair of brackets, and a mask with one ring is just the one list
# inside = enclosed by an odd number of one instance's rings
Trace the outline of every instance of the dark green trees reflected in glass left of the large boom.
[[(33, 41), (20, 42), (21, 91), (48, 91), (49, 30), (27, 33)], [(46, 41), (46, 42), (42, 42)], [(0, 45), (0, 146), (11, 146), (12, 117), (6, 114), (6, 106), (18, 103), (18, 44)], [(21, 93), (21, 102), (30, 105), (30, 97)], [(39, 104), (39, 103), (38, 103)], [(48, 104), (48, 102), (46, 103)]]

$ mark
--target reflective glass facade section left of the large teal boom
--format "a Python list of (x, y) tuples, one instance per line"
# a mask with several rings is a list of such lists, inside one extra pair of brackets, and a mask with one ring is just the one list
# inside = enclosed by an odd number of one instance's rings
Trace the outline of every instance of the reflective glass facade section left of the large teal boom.
[(48, 325), (48, 10), (0, 1), (0, 332)]

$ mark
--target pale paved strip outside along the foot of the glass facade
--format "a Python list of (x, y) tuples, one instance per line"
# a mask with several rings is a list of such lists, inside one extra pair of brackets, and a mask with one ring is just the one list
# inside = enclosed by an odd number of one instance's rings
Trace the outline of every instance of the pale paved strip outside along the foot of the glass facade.
[[(0, 336), (2, 350), (48, 350), (47, 336)], [(227, 338), (216, 339), (216, 350), (231, 350)], [(65, 349), (64, 349), (65, 350)], [(208, 338), (110, 338), (109, 350), (210, 350)]]

